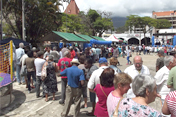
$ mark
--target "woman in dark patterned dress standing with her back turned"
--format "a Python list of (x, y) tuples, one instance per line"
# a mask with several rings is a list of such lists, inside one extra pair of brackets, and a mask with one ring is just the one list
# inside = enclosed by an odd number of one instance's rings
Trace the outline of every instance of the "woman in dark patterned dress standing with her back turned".
[(53, 62), (53, 56), (48, 56), (48, 62), (45, 62), (47, 77), (43, 81), (44, 86), (43, 90), (45, 93), (45, 101), (48, 101), (48, 93), (53, 93), (53, 101), (55, 100), (55, 93), (58, 91), (57, 89), (57, 79), (56, 79), (56, 72), (58, 71), (57, 65)]

